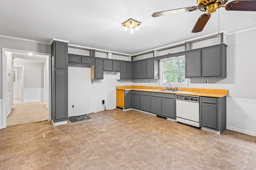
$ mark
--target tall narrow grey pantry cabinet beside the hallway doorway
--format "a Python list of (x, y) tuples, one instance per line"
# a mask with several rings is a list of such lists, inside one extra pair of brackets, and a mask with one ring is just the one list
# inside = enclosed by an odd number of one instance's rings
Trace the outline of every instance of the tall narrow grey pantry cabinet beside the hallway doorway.
[[(68, 120), (68, 43), (52, 42), (52, 121)], [(77, 61), (77, 58), (72, 60)]]

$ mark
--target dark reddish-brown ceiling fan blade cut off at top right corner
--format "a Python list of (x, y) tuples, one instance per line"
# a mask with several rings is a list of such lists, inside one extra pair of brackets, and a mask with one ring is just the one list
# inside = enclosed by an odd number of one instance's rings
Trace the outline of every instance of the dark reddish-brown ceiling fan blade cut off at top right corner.
[(256, 0), (232, 1), (225, 7), (228, 11), (256, 11)]

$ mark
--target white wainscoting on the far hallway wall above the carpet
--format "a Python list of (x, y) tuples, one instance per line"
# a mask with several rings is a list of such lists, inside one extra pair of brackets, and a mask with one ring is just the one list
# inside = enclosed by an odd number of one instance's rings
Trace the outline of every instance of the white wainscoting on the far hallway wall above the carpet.
[(24, 89), (23, 102), (44, 101), (44, 88), (26, 88)]

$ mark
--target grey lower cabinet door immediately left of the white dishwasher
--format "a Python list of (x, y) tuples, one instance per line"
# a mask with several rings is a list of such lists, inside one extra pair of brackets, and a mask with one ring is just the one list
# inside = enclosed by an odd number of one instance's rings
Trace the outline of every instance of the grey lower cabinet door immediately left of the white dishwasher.
[(174, 99), (162, 98), (162, 115), (175, 119)]

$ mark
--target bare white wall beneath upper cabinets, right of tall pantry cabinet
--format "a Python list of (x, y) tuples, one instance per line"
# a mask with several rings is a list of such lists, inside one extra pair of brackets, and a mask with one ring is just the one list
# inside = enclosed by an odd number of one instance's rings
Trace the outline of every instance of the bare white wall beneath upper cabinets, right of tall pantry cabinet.
[[(103, 80), (90, 79), (90, 68), (68, 67), (68, 117), (116, 108), (116, 86), (132, 82), (116, 80), (116, 73), (104, 73)], [(72, 108), (71, 106), (74, 105)]]

